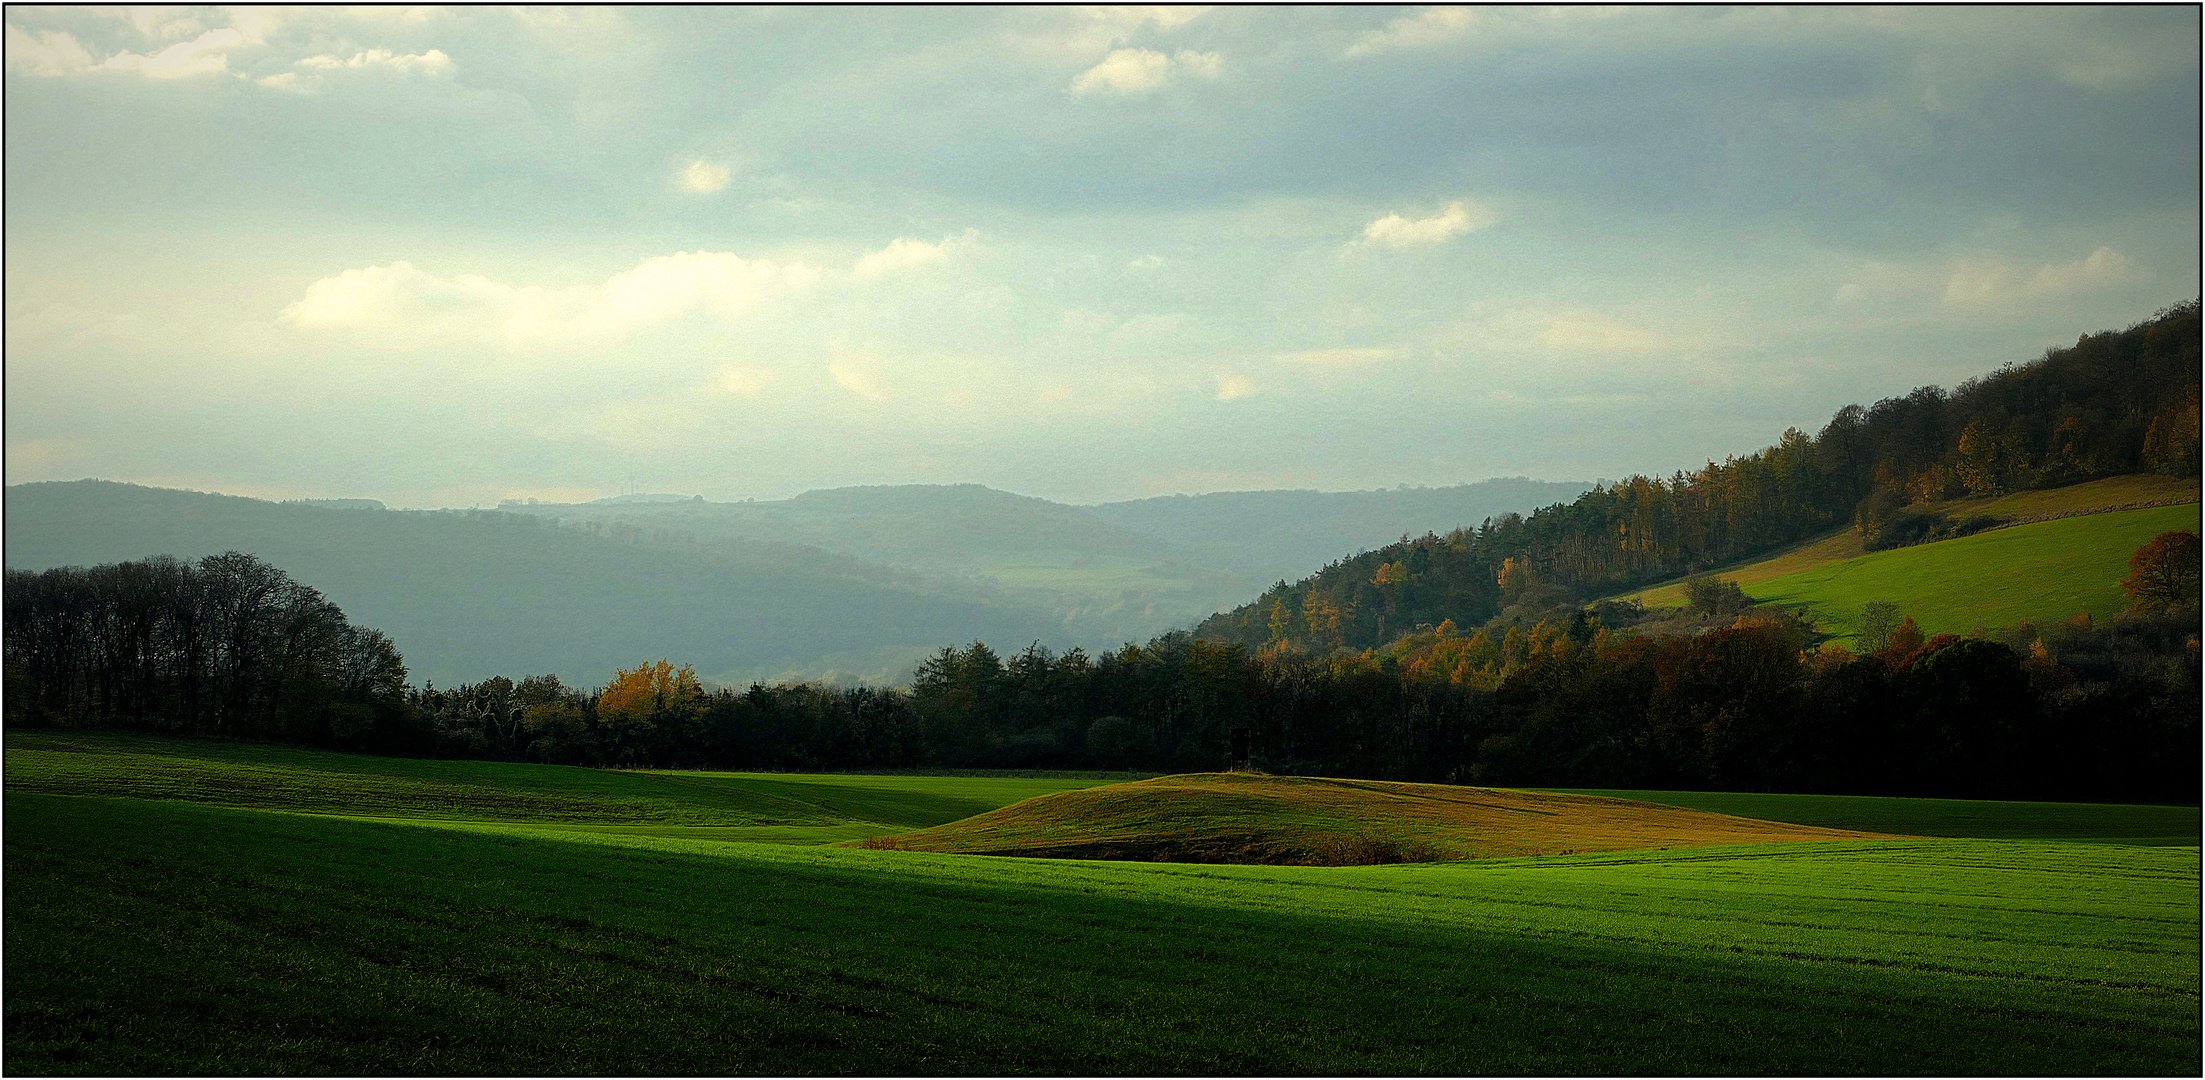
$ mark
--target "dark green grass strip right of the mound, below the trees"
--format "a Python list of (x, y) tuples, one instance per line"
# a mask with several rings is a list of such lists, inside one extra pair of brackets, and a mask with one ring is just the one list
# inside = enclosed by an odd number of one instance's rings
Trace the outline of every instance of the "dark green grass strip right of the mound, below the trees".
[(1779, 796), (1757, 791), (1621, 791), (1557, 787), (1572, 796), (1632, 798), (1764, 822), (1861, 833), (2088, 844), (2198, 846), (2198, 807), (2128, 802), (2009, 802), (1980, 798)]

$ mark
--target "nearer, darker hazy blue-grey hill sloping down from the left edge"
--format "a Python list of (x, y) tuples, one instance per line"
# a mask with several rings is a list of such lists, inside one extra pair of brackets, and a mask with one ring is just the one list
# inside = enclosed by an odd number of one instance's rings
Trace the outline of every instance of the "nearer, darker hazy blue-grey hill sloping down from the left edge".
[(717, 681), (902, 681), (944, 644), (1052, 639), (1041, 615), (827, 551), (681, 544), (498, 511), (278, 505), (104, 480), (7, 489), (7, 566), (249, 551), (388, 633), (415, 683), (670, 657)]

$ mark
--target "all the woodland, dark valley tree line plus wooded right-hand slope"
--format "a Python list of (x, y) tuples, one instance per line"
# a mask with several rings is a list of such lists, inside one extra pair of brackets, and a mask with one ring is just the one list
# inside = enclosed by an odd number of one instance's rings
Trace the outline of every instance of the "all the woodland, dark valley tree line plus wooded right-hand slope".
[[(1144, 646), (939, 648), (904, 688), (706, 688), (670, 659), (408, 685), (395, 644), (247, 553), (7, 573), (7, 723), (673, 769), (1270, 771), (1510, 787), (2198, 798), (2198, 540), (2137, 551), (2104, 622), (1859, 652), (1696, 577), (1687, 633), (1594, 597), (1914, 503), (2198, 474), (2198, 304), (1530, 518), (1424, 536)], [(580, 617), (580, 615), (578, 615)], [(1246, 747), (1237, 756), (1235, 747)]]

